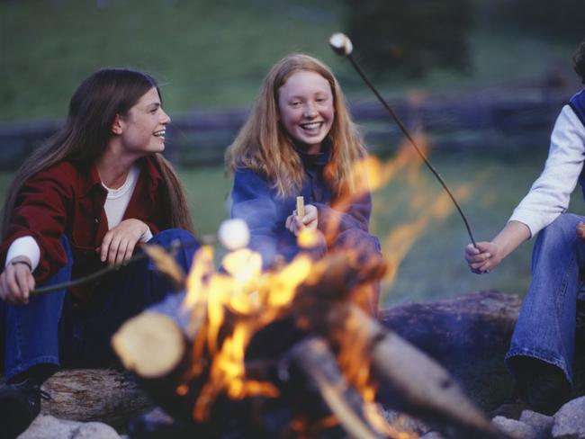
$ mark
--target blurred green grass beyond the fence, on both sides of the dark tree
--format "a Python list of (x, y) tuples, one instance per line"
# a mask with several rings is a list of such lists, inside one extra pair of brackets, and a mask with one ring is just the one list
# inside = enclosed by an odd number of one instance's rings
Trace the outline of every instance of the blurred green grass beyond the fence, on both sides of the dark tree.
[[(98, 7), (98, 4), (103, 4)], [(99, 67), (148, 70), (171, 116), (193, 108), (247, 106), (268, 69), (293, 51), (322, 58), (351, 96), (371, 97), (329, 49), (343, 31), (344, 2), (322, 0), (26, 0), (0, 2), (0, 121), (62, 119), (82, 78)], [(577, 43), (507, 35), (478, 22), (470, 70), (378, 84), (389, 94), (570, 81)], [(359, 59), (359, 48), (355, 51)]]

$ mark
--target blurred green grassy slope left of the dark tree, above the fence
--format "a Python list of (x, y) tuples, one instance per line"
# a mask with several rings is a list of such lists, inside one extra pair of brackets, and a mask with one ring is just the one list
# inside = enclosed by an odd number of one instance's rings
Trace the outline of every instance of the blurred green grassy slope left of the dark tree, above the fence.
[(61, 118), (80, 80), (104, 66), (148, 70), (171, 115), (247, 105), (288, 52), (338, 67), (327, 46), (337, 14), (334, 1), (0, 2), (0, 121)]

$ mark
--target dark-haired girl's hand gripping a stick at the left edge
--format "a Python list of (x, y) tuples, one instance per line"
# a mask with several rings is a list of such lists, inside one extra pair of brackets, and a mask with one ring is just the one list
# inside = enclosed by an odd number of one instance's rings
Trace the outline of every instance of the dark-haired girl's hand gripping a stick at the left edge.
[[(19, 263), (26, 262), (27, 264)], [(17, 256), (11, 260), (0, 274), (0, 298), (13, 305), (25, 305), (34, 290), (34, 276), (31, 273), (31, 260)]]

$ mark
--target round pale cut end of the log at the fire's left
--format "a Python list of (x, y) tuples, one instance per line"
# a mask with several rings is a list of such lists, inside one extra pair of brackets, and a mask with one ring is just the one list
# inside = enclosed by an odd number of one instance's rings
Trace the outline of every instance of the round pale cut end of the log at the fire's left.
[(144, 312), (121, 326), (112, 347), (126, 369), (149, 379), (175, 370), (184, 357), (185, 342), (172, 318)]

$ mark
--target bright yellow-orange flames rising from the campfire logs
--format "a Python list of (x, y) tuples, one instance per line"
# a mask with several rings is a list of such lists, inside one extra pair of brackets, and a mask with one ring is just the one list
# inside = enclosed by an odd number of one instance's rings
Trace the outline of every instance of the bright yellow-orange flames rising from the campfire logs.
[[(427, 142), (419, 136), (419, 145), (427, 148)], [(344, 212), (356, 198), (389, 184), (393, 178), (406, 175), (407, 181), (414, 186), (421, 184), (419, 167), (420, 157), (405, 145), (396, 156), (387, 162), (375, 157), (365, 157), (356, 165), (359, 182), (356, 192), (350, 197), (335, 202), (334, 210)], [(433, 222), (445, 220), (454, 210), (446, 193), (429, 193), (428, 189), (417, 191), (408, 203), (408, 210), (416, 220), (404, 222), (394, 228), (384, 239), (389, 249), (385, 260), (391, 270), (388, 281), (392, 282), (411, 246), (419, 239), (425, 229)], [(473, 192), (473, 185), (462, 185), (455, 189), (455, 196), (465, 200)], [(338, 217), (340, 219), (340, 216)], [(335, 220), (330, 221), (328, 232), (338, 228)], [(326, 237), (329, 233), (325, 234)], [(302, 230), (299, 245), (310, 248), (319, 244), (319, 233)], [(193, 269), (187, 278), (185, 309), (191, 309), (193, 318), (190, 334), (193, 336), (193, 365), (190, 377), (197, 377), (209, 371), (195, 407), (193, 417), (203, 421), (209, 417), (211, 405), (220, 394), (232, 399), (249, 395), (262, 395), (268, 398), (278, 396), (278, 390), (269, 382), (253, 381), (246, 377), (244, 356), (247, 345), (254, 334), (290, 308), (297, 287), (314, 275), (316, 265), (307, 255), (298, 255), (292, 263), (284, 265), (273, 273), (262, 272), (260, 255), (240, 249), (226, 255), (222, 261), (225, 273), (218, 273), (213, 265), (211, 247), (203, 246), (193, 262)], [(225, 323), (229, 317), (229, 334)], [(338, 328), (335, 336), (339, 343), (338, 364), (365, 401), (365, 415), (380, 432), (393, 438), (416, 437), (389, 426), (378, 413), (374, 404), (375, 386), (370, 377), (368, 361), (368, 337), (364, 328), (352, 318), (347, 318)], [(211, 364), (203, 363), (204, 360)], [(185, 385), (177, 391), (186, 393)], [(325, 422), (325, 421), (324, 421)], [(326, 424), (334, 422), (328, 419)]]

